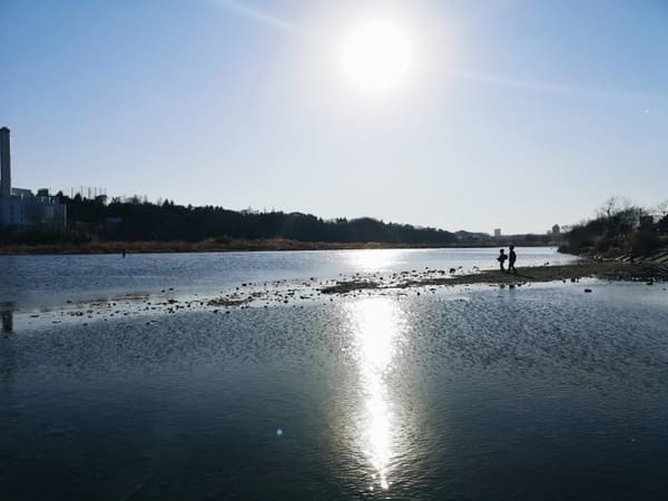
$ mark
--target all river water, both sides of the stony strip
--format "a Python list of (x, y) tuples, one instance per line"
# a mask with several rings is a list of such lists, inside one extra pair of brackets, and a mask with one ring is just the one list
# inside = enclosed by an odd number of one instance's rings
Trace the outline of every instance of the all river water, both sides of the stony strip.
[[(519, 250), (519, 264), (568, 259)], [(13, 257), (0, 259), (12, 271), (0, 297), (29, 317), (118, 293), (489, 268), (497, 253)], [(6, 330), (1, 499), (628, 500), (668, 490), (662, 284), (420, 287), (227, 311)]]

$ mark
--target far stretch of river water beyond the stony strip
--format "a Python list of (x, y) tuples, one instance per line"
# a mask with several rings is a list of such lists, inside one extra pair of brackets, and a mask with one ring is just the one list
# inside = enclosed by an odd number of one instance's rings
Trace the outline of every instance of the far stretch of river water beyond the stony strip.
[[(499, 249), (364, 249), (262, 253), (0, 256), (0, 305), (51, 308), (118, 295), (214, 294), (242, 283), (391, 274), (425, 267), (495, 268)], [(550, 247), (518, 247), (518, 266), (577, 258)], [(460, 268), (461, 267), (461, 268)]]

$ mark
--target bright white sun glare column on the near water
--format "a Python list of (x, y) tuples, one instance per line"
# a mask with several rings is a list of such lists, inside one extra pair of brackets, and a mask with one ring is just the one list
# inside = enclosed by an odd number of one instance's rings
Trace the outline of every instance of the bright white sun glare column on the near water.
[(362, 405), (360, 445), (381, 489), (390, 488), (390, 466), (395, 458), (397, 425), (386, 377), (400, 354), (405, 320), (397, 304), (371, 297), (348, 305), (354, 350), (360, 372)]

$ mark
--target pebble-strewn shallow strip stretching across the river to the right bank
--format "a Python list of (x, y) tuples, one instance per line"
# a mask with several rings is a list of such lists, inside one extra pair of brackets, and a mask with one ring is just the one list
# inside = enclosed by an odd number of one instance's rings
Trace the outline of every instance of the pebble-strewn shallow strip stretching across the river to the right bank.
[[(99, 298), (69, 298), (63, 305), (50, 308), (21, 311), (3, 304), (2, 333), (11, 335), (14, 328), (40, 328), (48, 324), (82, 323), (141, 317), (147, 325), (156, 315), (206, 311), (229, 314), (249, 307), (294, 306), (333, 302), (337, 297), (381, 295), (435, 294), (453, 287), (508, 287), (532, 284), (579, 284), (630, 282), (666, 288), (666, 271), (660, 266), (620, 262), (586, 261), (568, 265), (518, 267), (517, 274), (478, 267), (440, 269), (425, 267), (395, 273), (341, 274), (337, 278), (310, 277), (302, 281), (248, 282), (227, 287), (219, 293), (181, 292), (167, 287), (157, 294), (127, 293)], [(586, 289), (591, 292), (591, 289)]]

